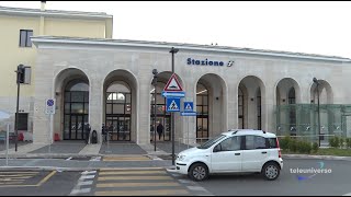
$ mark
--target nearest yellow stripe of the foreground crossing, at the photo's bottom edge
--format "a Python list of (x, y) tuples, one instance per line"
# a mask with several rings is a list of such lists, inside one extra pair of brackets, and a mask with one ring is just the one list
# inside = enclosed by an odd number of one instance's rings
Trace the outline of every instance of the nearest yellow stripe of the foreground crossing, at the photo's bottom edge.
[(111, 190), (95, 192), (95, 196), (166, 196), (166, 195), (186, 195), (184, 189), (159, 189), (159, 190)]

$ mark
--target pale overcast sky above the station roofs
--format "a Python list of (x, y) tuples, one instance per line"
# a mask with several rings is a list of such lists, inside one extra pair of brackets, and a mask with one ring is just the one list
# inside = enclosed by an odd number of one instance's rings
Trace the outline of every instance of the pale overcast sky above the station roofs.
[[(0, 1), (41, 8), (41, 1)], [(48, 10), (113, 15), (113, 38), (331, 55), (351, 58), (351, 2), (47, 1)]]

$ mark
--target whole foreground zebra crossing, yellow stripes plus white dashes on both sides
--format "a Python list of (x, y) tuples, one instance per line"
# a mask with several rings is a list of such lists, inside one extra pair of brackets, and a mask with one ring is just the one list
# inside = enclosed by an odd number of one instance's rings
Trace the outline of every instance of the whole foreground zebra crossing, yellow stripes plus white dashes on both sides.
[(197, 183), (163, 167), (84, 171), (70, 196), (213, 196)]

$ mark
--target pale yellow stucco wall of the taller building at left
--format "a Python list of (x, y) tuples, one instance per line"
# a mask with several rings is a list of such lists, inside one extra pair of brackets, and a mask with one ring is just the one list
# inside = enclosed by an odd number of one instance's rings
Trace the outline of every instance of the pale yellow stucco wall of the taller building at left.
[[(16, 111), (16, 67), (22, 63), (32, 68), (31, 84), (21, 84), (20, 112), (29, 113), (29, 130), (33, 126), (33, 99), (35, 78), (42, 74), (36, 70), (36, 47), (20, 47), (20, 30), (33, 30), (33, 36), (78, 36), (94, 38), (112, 37), (112, 18), (63, 19), (60, 16), (29, 16), (0, 13), (1, 60), (0, 60), (0, 109), (14, 115)], [(11, 127), (13, 130), (13, 127)]]

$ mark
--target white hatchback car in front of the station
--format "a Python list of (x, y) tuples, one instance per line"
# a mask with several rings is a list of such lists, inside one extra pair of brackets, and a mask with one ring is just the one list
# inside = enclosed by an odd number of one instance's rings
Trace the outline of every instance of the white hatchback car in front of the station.
[(283, 160), (274, 134), (235, 129), (180, 152), (176, 169), (194, 181), (203, 181), (210, 174), (238, 172), (261, 173), (265, 179), (273, 181), (283, 169)]

